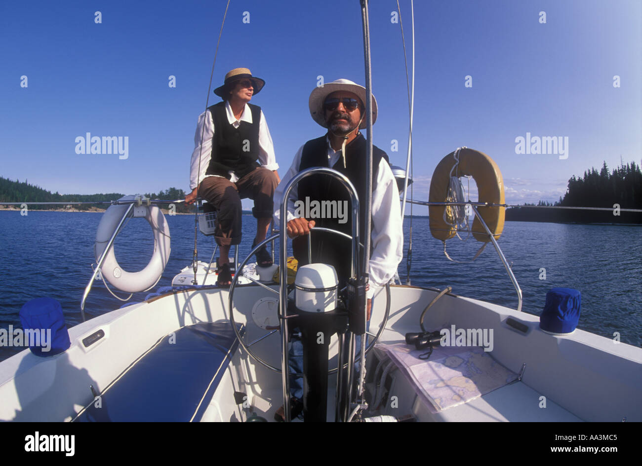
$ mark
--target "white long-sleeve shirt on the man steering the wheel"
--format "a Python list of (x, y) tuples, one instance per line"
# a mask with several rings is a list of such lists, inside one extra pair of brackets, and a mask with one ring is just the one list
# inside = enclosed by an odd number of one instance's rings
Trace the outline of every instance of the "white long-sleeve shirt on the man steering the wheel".
[[(326, 138), (327, 140), (327, 138)], [(274, 221), (279, 226), (280, 207), (285, 187), (299, 173), (303, 146), (299, 148), (288, 172), (274, 193)], [(334, 151), (327, 140), (328, 167), (334, 167), (339, 160), (341, 150)], [(288, 199), (288, 222), (299, 217), (295, 215), (295, 201), (299, 200), (299, 190), (295, 186)], [(372, 190), (372, 235), (373, 251), (370, 255), (369, 279), (370, 289), (367, 297), (371, 298), (378, 288), (383, 287), (394, 277), (397, 266), (403, 258), (403, 226), (401, 224), (401, 206), (399, 189), (392, 175), (388, 162), (381, 158), (374, 190)]]

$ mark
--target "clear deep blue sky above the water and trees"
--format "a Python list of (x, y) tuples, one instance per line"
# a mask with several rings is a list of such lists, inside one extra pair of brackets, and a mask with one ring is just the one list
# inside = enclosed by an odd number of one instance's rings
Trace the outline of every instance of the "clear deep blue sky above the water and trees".
[[(60, 193), (187, 190), (225, 3), (0, 3), (0, 176)], [(400, 4), (410, 51), (410, 1)], [(408, 101), (401, 33), (391, 22), (396, 8), (383, 0), (370, 6), (379, 104), (373, 133), (391, 162), (405, 165)], [(235, 67), (266, 80), (252, 103), (265, 112), (281, 174), (301, 144), (324, 133), (308, 110), (317, 76), (363, 83), (361, 35), (358, 0), (230, 2), (213, 88)], [(611, 168), (620, 157), (642, 162), (638, 0), (416, 1), (415, 66), (418, 199), (427, 199), (433, 169), (458, 146), (498, 163), (509, 203), (557, 200), (571, 175), (603, 160)], [(210, 104), (216, 101), (211, 94)], [(127, 136), (128, 158), (76, 154), (75, 138), (88, 132)], [(515, 140), (526, 133), (568, 137), (568, 158), (516, 154)]]

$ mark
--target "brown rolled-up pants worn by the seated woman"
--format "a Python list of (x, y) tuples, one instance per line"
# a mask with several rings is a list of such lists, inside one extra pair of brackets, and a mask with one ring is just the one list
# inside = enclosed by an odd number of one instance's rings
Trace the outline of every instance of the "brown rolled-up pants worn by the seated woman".
[(272, 217), (273, 196), (278, 184), (276, 175), (263, 167), (257, 167), (236, 183), (220, 176), (208, 176), (201, 181), (198, 196), (218, 211), (214, 232), (216, 244), (229, 246), (241, 242), (241, 199), (254, 200), (252, 215), (257, 219)]

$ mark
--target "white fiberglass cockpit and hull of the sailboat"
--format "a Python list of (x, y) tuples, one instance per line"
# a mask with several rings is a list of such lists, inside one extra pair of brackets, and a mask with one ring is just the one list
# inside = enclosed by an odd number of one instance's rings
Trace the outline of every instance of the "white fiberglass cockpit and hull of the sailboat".
[[(275, 286), (273, 289), (277, 289)], [(379, 342), (398, 344), (408, 331), (419, 331), (419, 316), (437, 291), (392, 286), (390, 318)], [(177, 329), (201, 322), (228, 320), (227, 290), (184, 290), (155, 297), (141, 304), (101, 315), (69, 330), (71, 347), (62, 354), (39, 358), (29, 350), (0, 363), (0, 420), (64, 421), (74, 419), (83, 406), (117, 379), (160, 338)], [(235, 320), (245, 325), (245, 341), (265, 335), (251, 317), (254, 304), (275, 295), (257, 285), (239, 285), (235, 292)], [(376, 333), (385, 311), (385, 291), (374, 300), (370, 332)], [(507, 324), (523, 324), (525, 331)], [(559, 337), (539, 329), (539, 317), (496, 304), (445, 295), (426, 313), (426, 328), (444, 324), (464, 329), (492, 329), (492, 357), (513, 372), (526, 363), (521, 381), (505, 385), (468, 403), (434, 413), (422, 403), (412, 384), (392, 369), (393, 387), (388, 396), (398, 403), (384, 403), (378, 413), (417, 420), (642, 420), (642, 349), (616, 344), (586, 331)], [(102, 330), (104, 336), (86, 347), (83, 339)], [(278, 331), (252, 349), (280, 367)], [(334, 351), (333, 351), (334, 350)], [(369, 371), (382, 358), (379, 348), (369, 354)], [(336, 360), (336, 342), (331, 356)], [(245, 420), (252, 412), (273, 419), (282, 404), (281, 375), (254, 362), (239, 347), (230, 354), (213, 394), (203, 397), (200, 420)], [(334, 367), (334, 362), (330, 367)], [(333, 394), (334, 378), (329, 387)], [(162, 390), (162, 387), (155, 387)], [(236, 404), (233, 392), (247, 394)], [(205, 394), (204, 394), (205, 395)], [(544, 397), (544, 406), (542, 406)], [(329, 397), (332, 403), (332, 397)], [(171, 403), (171, 399), (168, 399)], [(328, 412), (334, 412), (329, 404)], [(145, 419), (139, 419), (145, 420)], [(189, 420), (189, 419), (187, 419)], [(328, 420), (334, 420), (329, 415)]]

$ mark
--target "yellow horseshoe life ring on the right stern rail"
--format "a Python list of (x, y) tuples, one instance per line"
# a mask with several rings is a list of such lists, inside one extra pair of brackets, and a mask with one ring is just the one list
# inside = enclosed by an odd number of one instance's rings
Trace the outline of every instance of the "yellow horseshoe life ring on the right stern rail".
[[(451, 177), (451, 170), (455, 166), (455, 152), (449, 153), (438, 163), (433, 178), (430, 180), (429, 202), (443, 203), (447, 201), (448, 185)], [(462, 147), (458, 154), (459, 162), (456, 171), (452, 176), (472, 176), (477, 183), (479, 191), (479, 202), (490, 204), (504, 204), (504, 181), (497, 164), (486, 154)], [(430, 233), (438, 240), (445, 241), (453, 238), (456, 228), (444, 221), (444, 211), (447, 206), (429, 206), (428, 215), (430, 221)], [(483, 221), (492, 232), (495, 239), (501, 236), (504, 229), (505, 208), (504, 207), (482, 207), (477, 210), (482, 215)], [(482, 226), (482, 222), (475, 216), (473, 228), (471, 229), (476, 240), (489, 242), (490, 238)]]

